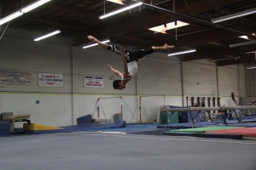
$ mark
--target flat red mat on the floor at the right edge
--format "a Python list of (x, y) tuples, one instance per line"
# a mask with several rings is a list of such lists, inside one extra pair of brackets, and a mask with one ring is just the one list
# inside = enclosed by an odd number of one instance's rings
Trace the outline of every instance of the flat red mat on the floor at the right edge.
[(205, 133), (241, 134), (242, 136), (256, 137), (256, 127), (241, 127), (241, 128), (233, 128), (233, 129), (214, 130), (214, 131), (207, 131)]

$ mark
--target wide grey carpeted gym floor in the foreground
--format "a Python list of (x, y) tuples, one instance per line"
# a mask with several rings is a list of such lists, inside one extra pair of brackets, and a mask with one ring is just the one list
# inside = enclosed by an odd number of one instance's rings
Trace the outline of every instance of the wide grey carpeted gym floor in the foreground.
[(0, 138), (1, 170), (255, 170), (256, 141), (125, 133)]

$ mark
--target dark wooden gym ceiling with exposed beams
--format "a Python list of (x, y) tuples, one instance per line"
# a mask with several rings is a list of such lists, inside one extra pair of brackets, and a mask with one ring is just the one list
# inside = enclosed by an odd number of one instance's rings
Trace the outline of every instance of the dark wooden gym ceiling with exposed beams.
[[(118, 1), (118, 0), (116, 0)], [(122, 0), (119, 0), (122, 1)], [(0, 18), (14, 13), (36, 0), (1, 0)], [(216, 65), (255, 62), (256, 43), (230, 48), (230, 44), (256, 39), (256, 14), (213, 24), (212, 19), (256, 8), (255, 0), (144, 0), (140, 8), (100, 20), (99, 16), (136, 3), (123, 5), (108, 0), (51, 0), (29, 13), (11, 20), (9, 26), (35, 31), (61, 30), (74, 37), (74, 46), (88, 44), (88, 35), (99, 40), (129, 44), (137, 48), (175, 45), (173, 51), (195, 48), (195, 53), (177, 55), (181, 61), (208, 59)], [(152, 5), (152, 6), (151, 6)], [(160, 33), (148, 28), (180, 20), (188, 26)], [(2, 26), (5, 28), (8, 24)], [(249, 39), (243, 39), (245, 36)], [(170, 56), (171, 58), (172, 56)]]

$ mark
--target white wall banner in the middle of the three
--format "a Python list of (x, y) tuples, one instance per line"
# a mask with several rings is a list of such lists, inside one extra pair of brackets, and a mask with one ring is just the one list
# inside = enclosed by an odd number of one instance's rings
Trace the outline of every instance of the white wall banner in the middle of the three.
[(63, 87), (63, 75), (38, 72), (38, 86)]

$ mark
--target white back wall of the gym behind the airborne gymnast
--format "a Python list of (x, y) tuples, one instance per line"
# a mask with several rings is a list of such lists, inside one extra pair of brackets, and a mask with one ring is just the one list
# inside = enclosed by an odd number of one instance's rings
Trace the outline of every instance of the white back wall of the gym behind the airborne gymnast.
[[(31, 86), (0, 84), (0, 112), (28, 113), (32, 122), (60, 127), (88, 114), (97, 118), (97, 107), (100, 118), (113, 118), (122, 106), (126, 122), (146, 122), (158, 119), (160, 105), (186, 105), (188, 95), (219, 96), (221, 105), (234, 105), (231, 92), (245, 96), (240, 67), (216, 67), (207, 59), (181, 63), (162, 53), (140, 59), (137, 77), (124, 90), (114, 90), (110, 77), (118, 77), (107, 65), (122, 71), (118, 54), (100, 47), (72, 47), (70, 37), (33, 42), (34, 34), (38, 32), (10, 29), (0, 41), (0, 68), (32, 75)], [(63, 74), (64, 87), (38, 87), (38, 72)], [(84, 75), (104, 77), (105, 88), (84, 88)]]

